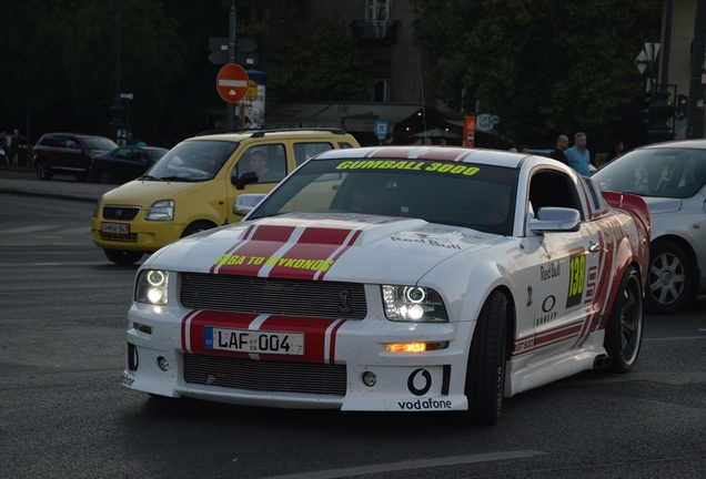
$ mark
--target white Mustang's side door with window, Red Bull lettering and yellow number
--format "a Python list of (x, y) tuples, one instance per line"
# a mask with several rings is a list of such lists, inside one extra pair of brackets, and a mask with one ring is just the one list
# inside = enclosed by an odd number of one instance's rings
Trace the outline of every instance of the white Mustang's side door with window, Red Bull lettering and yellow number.
[(532, 173), (528, 207), (542, 218), (544, 207), (571, 207), (581, 213), (577, 232), (527, 231), (527, 277), (534, 305), (533, 361), (582, 347), (597, 326), (601, 238), (589, 221), (576, 180), (559, 170)]

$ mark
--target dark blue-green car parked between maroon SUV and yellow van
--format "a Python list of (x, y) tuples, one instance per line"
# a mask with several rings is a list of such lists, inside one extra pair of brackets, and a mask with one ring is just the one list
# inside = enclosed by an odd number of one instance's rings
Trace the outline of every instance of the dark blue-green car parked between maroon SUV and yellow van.
[(169, 150), (157, 146), (120, 146), (93, 157), (90, 181), (125, 183), (142, 176)]

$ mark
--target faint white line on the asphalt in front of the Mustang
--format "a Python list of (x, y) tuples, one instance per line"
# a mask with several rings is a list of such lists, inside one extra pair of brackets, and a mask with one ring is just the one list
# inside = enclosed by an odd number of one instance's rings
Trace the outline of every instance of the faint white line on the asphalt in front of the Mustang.
[(386, 465), (361, 466), (361, 467), (346, 468), (346, 469), (329, 469), (329, 470), (322, 470), (322, 471), (315, 471), (315, 472), (303, 472), (303, 473), (288, 475), (288, 476), (272, 476), (265, 479), (335, 479), (335, 478), (363, 476), (363, 475), (377, 473), (377, 472), (395, 472), (395, 471), (403, 471), (403, 470), (423, 469), (423, 468), (430, 468), (430, 467), (456, 466), (456, 465), (463, 465), (463, 463), (487, 462), (487, 461), (505, 460), (505, 459), (520, 459), (520, 458), (527, 458), (533, 456), (542, 456), (546, 453), (548, 452), (535, 451), (535, 450), (490, 452), (490, 453), (471, 455), (471, 456), (455, 456), (455, 457), (441, 458), (441, 459), (407, 460), (407, 461), (401, 461), (401, 462), (390, 462)]

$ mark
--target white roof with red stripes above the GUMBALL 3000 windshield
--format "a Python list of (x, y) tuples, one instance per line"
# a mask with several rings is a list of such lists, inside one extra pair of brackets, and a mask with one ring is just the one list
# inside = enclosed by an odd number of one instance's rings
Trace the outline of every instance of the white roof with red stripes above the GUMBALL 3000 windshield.
[[(455, 146), (369, 146), (330, 150), (315, 156), (314, 160), (423, 159), (427, 161), (455, 161), (517, 169), (526, 157), (535, 156), (527, 155), (525, 153), (506, 152), (504, 150), (467, 149)], [(536, 159), (538, 160), (539, 156), (536, 156)]]

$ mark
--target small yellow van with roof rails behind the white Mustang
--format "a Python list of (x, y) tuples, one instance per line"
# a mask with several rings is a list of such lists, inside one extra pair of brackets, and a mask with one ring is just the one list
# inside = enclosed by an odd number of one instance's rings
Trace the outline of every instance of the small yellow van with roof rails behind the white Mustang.
[(243, 193), (268, 193), (310, 157), (360, 146), (342, 130), (255, 130), (195, 136), (143, 176), (105, 193), (91, 218), (93, 242), (117, 264), (133, 264), (193, 233), (242, 216)]

